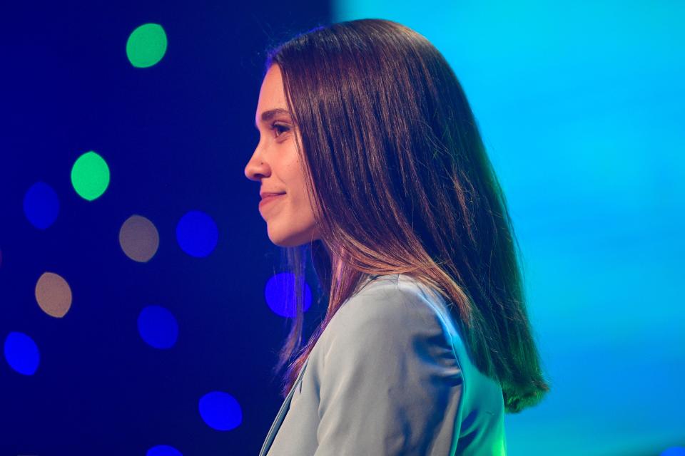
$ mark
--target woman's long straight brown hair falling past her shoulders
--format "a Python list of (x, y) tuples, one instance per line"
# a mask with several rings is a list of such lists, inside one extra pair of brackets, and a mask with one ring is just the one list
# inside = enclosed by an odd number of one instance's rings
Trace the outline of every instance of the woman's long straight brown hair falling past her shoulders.
[[(297, 314), (282, 393), (371, 275), (407, 274), (450, 304), (508, 413), (549, 391), (526, 311), (520, 247), (464, 90), (427, 39), (382, 19), (319, 26), (268, 52), (280, 66), (321, 239), (282, 252)], [(302, 346), (308, 259), (328, 311)], [(294, 359), (293, 359), (294, 358)]]

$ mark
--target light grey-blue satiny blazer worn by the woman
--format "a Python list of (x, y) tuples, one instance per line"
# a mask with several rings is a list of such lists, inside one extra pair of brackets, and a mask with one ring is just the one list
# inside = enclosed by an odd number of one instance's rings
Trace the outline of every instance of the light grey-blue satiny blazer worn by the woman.
[(265, 455), (506, 455), (502, 388), (472, 363), (442, 296), (377, 276), (321, 334)]

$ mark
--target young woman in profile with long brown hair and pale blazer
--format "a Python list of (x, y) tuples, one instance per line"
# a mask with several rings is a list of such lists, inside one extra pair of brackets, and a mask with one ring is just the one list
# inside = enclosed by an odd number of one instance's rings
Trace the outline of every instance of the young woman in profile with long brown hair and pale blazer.
[[(442, 54), (392, 21), (315, 28), (270, 51), (255, 125), (245, 175), (298, 308), (260, 454), (504, 455), (504, 413), (549, 386), (506, 201)], [(308, 254), (328, 311), (301, 346)]]

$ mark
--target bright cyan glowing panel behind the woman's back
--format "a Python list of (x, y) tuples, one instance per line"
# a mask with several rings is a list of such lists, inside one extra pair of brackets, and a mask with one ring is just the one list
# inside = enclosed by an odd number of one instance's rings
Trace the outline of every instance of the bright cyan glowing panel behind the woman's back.
[(422, 33), (477, 117), (552, 386), (505, 418), (508, 455), (677, 451), (685, 3), (338, 0), (334, 12)]

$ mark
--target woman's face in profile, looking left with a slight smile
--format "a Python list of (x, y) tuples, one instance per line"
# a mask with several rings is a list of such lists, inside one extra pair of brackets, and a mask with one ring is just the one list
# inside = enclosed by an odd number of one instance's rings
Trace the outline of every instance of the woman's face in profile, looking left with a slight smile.
[(259, 204), (269, 239), (280, 247), (296, 247), (319, 239), (278, 65), (272, 65), (264, 76), (255, 125), (259, 142), (245, 166), (245, 177), (260, 182), (260, 194), (281, 194), (262, 199)]

